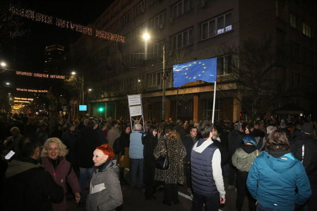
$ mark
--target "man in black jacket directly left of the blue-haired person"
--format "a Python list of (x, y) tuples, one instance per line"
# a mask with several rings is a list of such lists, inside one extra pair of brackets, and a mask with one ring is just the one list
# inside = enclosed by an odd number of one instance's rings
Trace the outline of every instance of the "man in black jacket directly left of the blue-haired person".
[(234, 189), (235, 186), (235, 174), (237, 169), (232, 166), (231, 158), (236, 149), (240, 148), (243, 145), (243, 130), (242, 124), (234, 124), (234, 129), (229, 133), (228, 144), (229, 144), (229, 189)]

